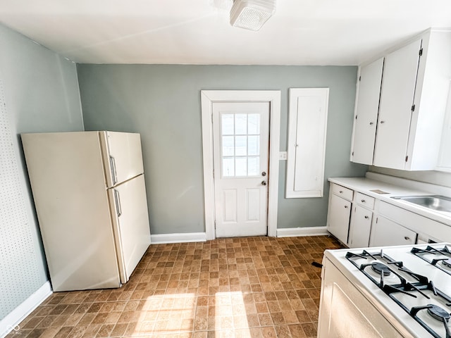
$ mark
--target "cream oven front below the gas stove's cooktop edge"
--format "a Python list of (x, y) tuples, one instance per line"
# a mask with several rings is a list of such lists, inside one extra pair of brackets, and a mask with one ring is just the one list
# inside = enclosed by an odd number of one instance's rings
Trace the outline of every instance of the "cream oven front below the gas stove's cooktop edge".
[(328, 259), (323, 273), (318, 338), (404, 337)]

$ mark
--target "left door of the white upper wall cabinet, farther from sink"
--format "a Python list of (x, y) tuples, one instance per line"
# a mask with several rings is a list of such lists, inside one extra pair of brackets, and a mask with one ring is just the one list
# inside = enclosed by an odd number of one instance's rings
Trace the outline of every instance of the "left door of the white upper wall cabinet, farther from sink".
[(373, 164), (382, 69), (383, 58), (360, 69), (359, 96), (356, 103), (352, 139), (352, 162)]

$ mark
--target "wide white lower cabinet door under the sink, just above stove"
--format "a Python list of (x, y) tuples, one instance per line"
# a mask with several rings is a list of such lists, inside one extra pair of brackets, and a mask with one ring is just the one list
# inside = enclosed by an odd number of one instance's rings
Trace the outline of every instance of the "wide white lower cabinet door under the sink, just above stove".
[(369, 246), (415, 244), (416, 232), (379, 216), (373, 224)]

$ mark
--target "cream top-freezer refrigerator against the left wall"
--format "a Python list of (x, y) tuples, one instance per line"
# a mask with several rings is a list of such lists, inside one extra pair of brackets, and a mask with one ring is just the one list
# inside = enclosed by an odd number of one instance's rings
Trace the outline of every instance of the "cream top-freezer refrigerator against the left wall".
[(54, 291), (121, 287), (150, 244), (140, 134), (21, 134)]

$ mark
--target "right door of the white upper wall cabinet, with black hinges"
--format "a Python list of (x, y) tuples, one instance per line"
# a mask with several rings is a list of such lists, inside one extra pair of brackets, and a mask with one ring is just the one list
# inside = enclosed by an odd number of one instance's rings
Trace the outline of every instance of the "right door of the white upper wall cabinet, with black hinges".
[(385, 57), (373, 164), (404, 169), (421, 39)]

